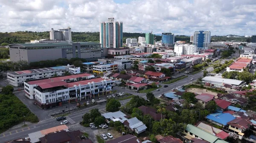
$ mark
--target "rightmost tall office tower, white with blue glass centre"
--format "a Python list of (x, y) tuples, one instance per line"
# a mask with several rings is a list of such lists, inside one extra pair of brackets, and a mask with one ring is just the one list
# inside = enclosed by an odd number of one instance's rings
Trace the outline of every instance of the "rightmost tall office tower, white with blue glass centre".
[(195, 31), (193, 38), (193, 45), (198, 50), (207, 50), (211, 43), (211, 31)]

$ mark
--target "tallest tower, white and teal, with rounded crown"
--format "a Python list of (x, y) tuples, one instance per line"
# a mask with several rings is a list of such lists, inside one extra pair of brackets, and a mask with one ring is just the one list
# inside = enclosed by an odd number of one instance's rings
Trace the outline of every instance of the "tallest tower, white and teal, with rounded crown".
[(107, 22), (101, 22), (99, 30), (101, 47), (122, 47), (122, 26), (122, 22), (114, 21), (114, 18), (108, 18)]

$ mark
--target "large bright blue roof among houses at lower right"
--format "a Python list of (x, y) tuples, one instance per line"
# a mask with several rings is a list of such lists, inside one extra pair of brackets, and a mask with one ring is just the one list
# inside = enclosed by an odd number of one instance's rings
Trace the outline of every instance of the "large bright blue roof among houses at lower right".
[(227, 122), (234, 120), (236, 117), (230, 113), (213, 113), (207, 115), (206, 118), (226, 126)]

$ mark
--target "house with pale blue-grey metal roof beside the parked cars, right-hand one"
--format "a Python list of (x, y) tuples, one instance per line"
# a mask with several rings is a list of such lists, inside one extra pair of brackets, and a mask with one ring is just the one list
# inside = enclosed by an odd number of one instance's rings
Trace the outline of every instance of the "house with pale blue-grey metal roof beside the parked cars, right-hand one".
[(124, 121), (123, 124), (131, 132), (136, 132), (137, 134), (145, 132), (145, 130), (147, 129), (146, 125), (142, 121), (138, 120), (136, 117)]

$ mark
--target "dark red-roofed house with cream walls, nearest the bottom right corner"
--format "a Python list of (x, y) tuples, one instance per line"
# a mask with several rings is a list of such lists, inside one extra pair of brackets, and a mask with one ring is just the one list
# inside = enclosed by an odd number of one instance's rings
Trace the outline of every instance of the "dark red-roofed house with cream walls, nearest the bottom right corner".
[(238, 134), (240, 140), (244, 136), (243, 132), (247, 131), (248, 129), (250, 129), (250, 126), (252, 126), (252, 123), (243, 118), (236, 118), (232, 121), (227, 122), (227, 124), (229, 125), (228, 130)]

